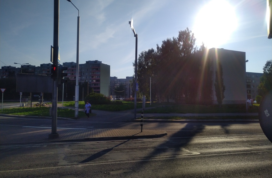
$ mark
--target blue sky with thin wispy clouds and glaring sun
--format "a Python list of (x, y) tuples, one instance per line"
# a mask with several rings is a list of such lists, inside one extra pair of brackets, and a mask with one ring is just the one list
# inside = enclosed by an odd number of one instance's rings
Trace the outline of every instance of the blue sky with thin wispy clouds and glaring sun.
[[(78, 10), (59, 0), (61, 63), (76, 62)], [(135, 37), (138, 55), (156, 49), (186, 27), (198, 48), (246, 53), (247, 72), (263, 72), (272, 59), (267, 38), (266, 0), (71, 0), (79, 9), (79, 63), (110, 65), (110, 76), (134, 75)], [(0, 0), (0, 67), (14, 63), (40, 66), (50, 62), (53, 46), (53, 0)]]

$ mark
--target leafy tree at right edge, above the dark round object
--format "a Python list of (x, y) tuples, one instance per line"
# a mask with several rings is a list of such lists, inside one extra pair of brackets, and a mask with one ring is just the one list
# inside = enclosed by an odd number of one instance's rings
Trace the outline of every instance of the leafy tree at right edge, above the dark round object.
[(258, 86), (259, 95), (262, 97), (272, 90), (272, 59), (266, 61), (263, 67), (263, 73), (260, 78), (260, 85)]

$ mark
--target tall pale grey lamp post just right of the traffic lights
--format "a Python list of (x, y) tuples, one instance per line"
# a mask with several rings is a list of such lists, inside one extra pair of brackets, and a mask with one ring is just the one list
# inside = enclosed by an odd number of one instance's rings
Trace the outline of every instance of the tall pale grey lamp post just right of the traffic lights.
[[(70, 0), (67, 0), (67, 1), (71, 2)], [(79, 11), (79, 9), (74, 4), (73, 6)], [(80, 24), (80, 17), (78, 15), (76, 82), (75, 82), (75, 94), (74, 94), (74, 117), (75, 118), (78, 118), (78, 115), (79, 115), (79, 24)]]

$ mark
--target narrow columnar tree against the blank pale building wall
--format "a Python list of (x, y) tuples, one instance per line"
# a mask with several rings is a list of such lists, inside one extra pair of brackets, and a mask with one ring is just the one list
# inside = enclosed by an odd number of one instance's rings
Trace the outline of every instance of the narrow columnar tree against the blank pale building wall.
[(217, 63), (217, 71), (215, 71), (215, 96), (217, 99), (217, 103), (221, 106), (223, 103), (223, 99), (225, 98), (225, 85), (223, 79), (223, 69), (221, 63), (218, 61)]

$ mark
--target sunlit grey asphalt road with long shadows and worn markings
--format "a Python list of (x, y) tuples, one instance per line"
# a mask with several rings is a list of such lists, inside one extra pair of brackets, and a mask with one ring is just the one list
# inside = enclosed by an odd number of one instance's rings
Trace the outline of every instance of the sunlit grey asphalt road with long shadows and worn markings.
[[(130, 119), (58, 120), (59, 127), (135, 128)], [(50, 119), (10, 118), (38, 126)], [(156, 139), (0, 145), (0, 177), (271, 177), (272, 143), (259, 123), (151, 122)], [(33, 133), (35, 134), (35, 133)]]

